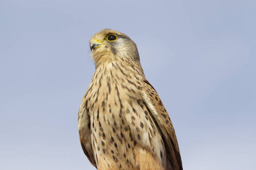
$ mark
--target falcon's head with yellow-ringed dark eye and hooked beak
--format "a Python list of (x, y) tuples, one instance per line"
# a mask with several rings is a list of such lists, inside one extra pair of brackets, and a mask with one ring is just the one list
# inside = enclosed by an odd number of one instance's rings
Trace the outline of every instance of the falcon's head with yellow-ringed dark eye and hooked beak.
[(125, 34), (112, 29), (102, 29), (89, 41), (96, 67), (101, 63), (122, 59), (138, 61), (137, 45)]

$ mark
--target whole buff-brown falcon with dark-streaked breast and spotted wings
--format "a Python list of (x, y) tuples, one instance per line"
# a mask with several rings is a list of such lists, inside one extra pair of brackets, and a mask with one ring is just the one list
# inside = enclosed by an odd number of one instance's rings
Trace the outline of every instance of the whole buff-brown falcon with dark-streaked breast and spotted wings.
[(145, 78), (135, 42), (102, 29), (89, 44), (95, 71), (78, 113), (89, 162), (100, 170), (183, 169), (174, 126)]

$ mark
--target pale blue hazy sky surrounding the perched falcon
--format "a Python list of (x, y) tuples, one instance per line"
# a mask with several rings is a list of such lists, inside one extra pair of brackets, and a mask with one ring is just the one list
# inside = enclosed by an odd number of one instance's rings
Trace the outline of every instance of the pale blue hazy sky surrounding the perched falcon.
[(77, 113), (101, 29), (128, 35), (184, 169), (256, 169), (256, 1), (0, 1), (0, 169), (95, 169)]

